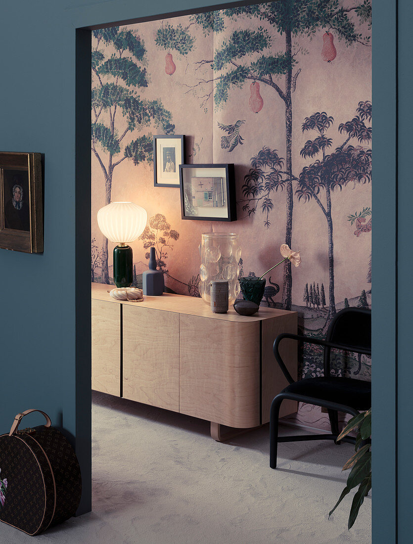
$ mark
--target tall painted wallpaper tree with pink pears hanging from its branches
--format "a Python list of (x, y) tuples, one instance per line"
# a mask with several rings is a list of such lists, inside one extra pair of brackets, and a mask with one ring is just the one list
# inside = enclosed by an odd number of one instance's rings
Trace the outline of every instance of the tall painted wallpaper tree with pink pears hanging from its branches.
[[(265, 225), (270, 226), (268, 220), (268, 209), (272, 205), (270, 193), (278, 187), (286, 189), (286, 236), (285, 243), (291, 247), (292, 242), (292, 219), (293, 219), (293, 158), (292, 158), (292, 120), (293, 102), (292, 94), (295, 91), (301, 69), (298, 67), (299, 53), (306, 53), (302, 47), (293, 46), (293, 38), (306, 36), (310, 40), (318, 29), (325, 29), (327, 39), (323, 40), (321, 58), (326, 61), (333, 61), (335, 55), (334, 36), (338, 40), (344, 40), (347, 46), (360, 42), (368, 45), (369, 36), (357, 33), (355, 23), (351, 16), (355, 14), (360, 23), (371, 24), (371, 0), (355, 2), (349, 8), (343, 8), (339, 0), (280, 0), (278, 2), (249, 5), (239, 8), (225, 9), (204, 14), (196, 14), (190, 17), (190, 24), (200, 24), (205, 33), (211, 31), (222, 32), (225, 29), (225, 18), (230, 21), (237, 20), (239, 16), (249, 19), (257, 19), (268, 22), (280, 35), (283, 36), (285, 45), (280, 48), (279, 40), (270, 36), (267, 29), (259, 27), (233, 30), (229, 39), (215, 50), (213, 59), (205, 59), (198, 63), (210, 64), (214, 70), (213, 79), (206, 81), (200, 79), (195, 85), (202, 87), (207, 83), (213, 83), (213, 91), (202, 96), (205, 106), (209, 96), (214, 92), (215, 107), (220, 108), (229, 100), (230, 90), (242, 88), (250, 81), (249, 108), (258, 113), (263, 110), (263, 100), (260, 95), (260, 83), (267, 85), (274, 90), (274, 100), (282, 100), (285, 105), (285, 126), (286, 126), (286, 160), (285, 171), (281, 173), (283, 178), (282, 186), (277, 176), (276, 184), (272, 180), (266, 180), (263, 189), (255, 195), (249, 195), (252, 206), (246, 211), (249, 215), (254, 214), (257, 205), (266, 214)], [(189, 26), (190, 26), (189, 24)], [(175, 47), (179, 51), (180, 43), (183, 42), (187, 50), (192, 50), (194, 40), (188, 33), (188, 27), (174, 29), (169, 27), (165, 34), (163, 29), (158, 31), (157, 45), (169, 50)], [(174, 32), (180, 40), (174, 40)], [(191, 41), (192, 40), (192, 41)], [(256, 58), (256, 54), (260, 56)], [(251, 59), (254, 57), (254, 60)], [(285, 83), (283, 88), (278, 83), (278, 78), (283, 77)], [(277, 81), (275, 81), (277, 80)], [(268, 104), (271, 108), (271, 105)], [(266, 110), (267, 112), (269, 109)], [(275, 150), (274, 150), (275, 152)], [(266, 195), (264, 195), (266, 193)], [(262, 197), (262, 202), (261, 202)], [(248, 206), (248, 203), (247, 203)], [(272, 209), (272, 208), (271, 208)], [(291, 262), (285, 263), (283, 273), (282, 307), (286, 310), (291, 308), (292, 275)]]

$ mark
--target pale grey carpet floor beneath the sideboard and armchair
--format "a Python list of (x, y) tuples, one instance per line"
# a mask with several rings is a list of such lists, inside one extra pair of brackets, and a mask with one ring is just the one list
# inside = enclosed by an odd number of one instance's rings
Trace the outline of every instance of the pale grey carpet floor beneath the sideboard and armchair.
[[(329, 441), (279, 446), (269, 468), (268, 424), (218, 443), (209, 423), (93, 394), (93, 511), (35, 542), (61, 544), (334, 544), (371, 542), (371, 497), (353, 528), (353, 493), (328, 518), (353, 446)], [(281, 426), (280, 434), (297, 434)], [(0, 542), (33, 543), (0, 524)]]

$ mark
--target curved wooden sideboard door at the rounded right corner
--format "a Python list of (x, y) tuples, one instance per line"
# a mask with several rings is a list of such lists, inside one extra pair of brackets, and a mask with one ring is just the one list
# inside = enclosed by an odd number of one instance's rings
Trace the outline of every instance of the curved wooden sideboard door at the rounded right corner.
[(180, 412), (260, 425), (260, 323), (180, 314)]

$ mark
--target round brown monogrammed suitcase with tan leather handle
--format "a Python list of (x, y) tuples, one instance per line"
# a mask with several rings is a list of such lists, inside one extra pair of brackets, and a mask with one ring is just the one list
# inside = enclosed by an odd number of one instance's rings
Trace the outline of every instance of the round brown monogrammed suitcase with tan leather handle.
[[(23, 416), (40, 412), (45, 425), (19, 431)], [(41, 410), (18, 413), (0, 436), (0, 521), (29, 535), (75, 515), (82, 493), (79, 463), (69, 441)]]

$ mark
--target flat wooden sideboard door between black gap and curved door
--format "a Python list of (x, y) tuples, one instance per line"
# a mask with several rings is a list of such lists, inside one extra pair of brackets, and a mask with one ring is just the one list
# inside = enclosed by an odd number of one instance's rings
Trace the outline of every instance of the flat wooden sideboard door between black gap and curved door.
[(178, 412), (179, 314), (132, 303), (122, 310), (123, 397)]

